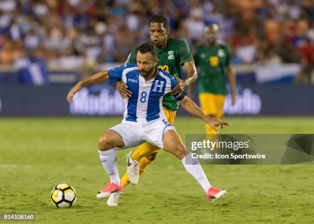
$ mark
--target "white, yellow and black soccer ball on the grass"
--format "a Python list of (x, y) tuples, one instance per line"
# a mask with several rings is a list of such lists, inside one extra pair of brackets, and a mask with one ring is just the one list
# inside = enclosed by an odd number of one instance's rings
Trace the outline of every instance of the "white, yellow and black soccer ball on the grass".
[(69, 208), (76, 201), (76, 192), (72, 186), (60, 184), (52, 189), (50, 198), (57, 208)]

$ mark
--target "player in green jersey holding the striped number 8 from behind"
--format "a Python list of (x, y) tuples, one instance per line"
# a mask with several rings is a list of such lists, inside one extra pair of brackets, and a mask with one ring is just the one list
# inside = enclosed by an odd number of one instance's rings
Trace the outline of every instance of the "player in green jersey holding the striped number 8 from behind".
[[(184, 88), (197, 79), (197, 70), (186, 42), (181, 39), (168, 38), (168, 34), (169, 27), (167, 18), (161, 15), (153, 16), (149, 21), (150, 41), (147, 43), (153, 45), (158, 52), (159, 62), (156, 66), (180, 78), (178, 79), (176, 87), (170, 94), (165, 95), (162, 101), (167, 121), (169, 124), (173, 124), (176, 111), (179, 109), (179, 104), (172, 95), (179, 93), (178, 97), (181, 96)], [(127, 64), (136, 64), (137, 52), (138, 48), (131, 51), (126, 61)], [(187, 77), (181, 80), (183, 65), (187, 71)], [(131, 92), (123, 82), (117, 82), (117, 89), (122, 97), (131, 96)], [(155, 159), (159, 151), (160, 149), (158, 147), (146, 142), (133, 153), (131, 152), (131, 158), (140, 162), (140, 174), (146, 170), (147, 166)], [(126, 187), (130, 183), (127, 173), (121, 178), (121, 181), (123, 187)]]

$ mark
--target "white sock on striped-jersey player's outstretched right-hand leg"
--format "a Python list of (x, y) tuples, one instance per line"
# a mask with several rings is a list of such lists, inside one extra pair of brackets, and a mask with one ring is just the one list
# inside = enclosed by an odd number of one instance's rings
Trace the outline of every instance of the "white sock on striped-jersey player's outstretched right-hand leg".
[(207, 193), (211, 185), (208, 182), (199, 160), (193, 159), (191, 153), (189, 153), (183, 159), (181, 159), (181, 161), (186, 171), (189, 172), (199, 182), (205, 193)]

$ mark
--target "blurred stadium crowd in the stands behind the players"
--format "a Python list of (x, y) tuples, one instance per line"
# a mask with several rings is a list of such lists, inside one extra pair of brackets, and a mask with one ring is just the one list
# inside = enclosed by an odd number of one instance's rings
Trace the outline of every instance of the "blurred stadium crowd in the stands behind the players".
[(170, 37), (191, 50), (206, 24), (218, 24), (234, 65), (313, 69), (313, 0), (0, 0), (0, 65), (34, 58), (64, 68), (123, 63), (149, 39), (154, 14), (166, 15)]

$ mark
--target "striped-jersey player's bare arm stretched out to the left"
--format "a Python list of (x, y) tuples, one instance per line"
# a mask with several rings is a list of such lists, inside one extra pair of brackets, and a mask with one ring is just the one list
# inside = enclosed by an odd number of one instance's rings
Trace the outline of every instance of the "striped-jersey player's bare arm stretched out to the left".
[(80, 91), (83, 86), (88, 86), (92, 84), (102, 83), (109, 79), (108, 70), (97, 72), (92, 76), (78, 82), (68, 93), (67, 100), (69, 103), (72, 103), (73, 96), (76, 92)]

